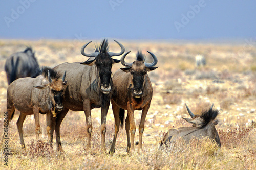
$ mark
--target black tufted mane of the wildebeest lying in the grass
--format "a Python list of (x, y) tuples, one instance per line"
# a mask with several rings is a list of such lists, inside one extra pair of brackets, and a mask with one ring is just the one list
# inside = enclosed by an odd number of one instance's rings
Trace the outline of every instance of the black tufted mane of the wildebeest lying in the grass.
[(203, 128), (204, 126), (208, 125), (211, 121), (213, 121), (219, 115), (218, 110), (209, 109), (208, 111), (205, 110), (200, 115), (202, 118), (202, 122), (199, 124), (199, 128)]

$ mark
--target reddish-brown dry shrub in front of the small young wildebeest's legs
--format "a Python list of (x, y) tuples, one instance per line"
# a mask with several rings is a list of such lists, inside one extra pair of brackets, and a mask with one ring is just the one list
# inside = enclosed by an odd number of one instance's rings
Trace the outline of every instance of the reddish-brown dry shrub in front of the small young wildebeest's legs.
[(32, 140), (27, 147), (28, 155), (34, 157), (51, 157), (54, 154), (52, 145), (45, 143), (42, 140)]

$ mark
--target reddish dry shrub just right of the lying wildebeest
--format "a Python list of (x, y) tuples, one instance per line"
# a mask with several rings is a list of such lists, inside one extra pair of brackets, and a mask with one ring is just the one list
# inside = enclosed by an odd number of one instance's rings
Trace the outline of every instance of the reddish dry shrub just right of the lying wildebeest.
[(248, 142), (247, 137), (251, 129), (252, 127), (245, 126), (219, 129), (218, 133), (222, 147), (225, 147), (226, 149), (241, 147), (241, 145), (244, 145), (245, 141)]

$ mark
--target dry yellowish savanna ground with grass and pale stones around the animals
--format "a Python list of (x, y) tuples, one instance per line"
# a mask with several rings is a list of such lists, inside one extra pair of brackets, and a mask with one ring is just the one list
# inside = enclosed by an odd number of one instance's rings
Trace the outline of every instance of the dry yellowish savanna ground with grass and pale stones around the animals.
[[(100, 42), (100, 41), (98, 41)], [(26, 150), (19, 144), (16, 112), (9, 125), (8, 166), (4, 165), (1, 148), (1, 169), (256, 169), (256, 46), (236, 44), (176, 43), (161, 41), (123, 41), (125, 51), (132, 52), (127, 61), (135, 59), (137, 50), (153, 52), (159, 68), (149, 73), (154, 87), (143, 134), (143, 153), (126, 153), (126, 132), (120, 130), (113, 156), (101, 153), (100, 109), (92, 110), (92, 154), (84, 150), (86, 120), (83, 112), (69, 111), (61, 124), (61, 141), (65, 153), (56, 152), (47, 144), (46, 116), (40, 115), (40, 140), (35, 140), (33, 115), (24, 125)], [(0, 127), (3, 127), (8, 87), (5, 60), (12, 53), (32, 46), (39, 65), (54, 67), (63, 62), (85, 61), (80, 47), (86, 43), (68, 40), (0, 40)], [(93, 44), (87, 50), (93, 52)], [(119, 46), (110, 39), (110, 50)], [(206, 57), (205, 67), (195, 67), (195, 56)], [(115, 57), (120, 59), (120, 57)], [(151, 62), (147, 54), (147, 62)], [(123, 67), (113, 66), (115, 72)], [(74, 68), (75, 69), (75, 68)], [(170, 128), (190, 126), (182, 117), (189, 117), (185, 103), (194, 114), (208, 109), (212, 103), (220, 111), (216, 126), (222, 146), (219, 149), (208, 139), (184, 141), (170, 148), (159, 149), (159, 141)], [(141, 111), (135, 111), (138, 128)], [(106, 146), (109, 150), (114, 135), (114, 117), (110, 106), (107, 119)], [(3, 130), (0, 131), (1, 134)], [(138, 130), (135, 140), (138, 141)], [(137, 150), (137, 147), (136, 147)]]

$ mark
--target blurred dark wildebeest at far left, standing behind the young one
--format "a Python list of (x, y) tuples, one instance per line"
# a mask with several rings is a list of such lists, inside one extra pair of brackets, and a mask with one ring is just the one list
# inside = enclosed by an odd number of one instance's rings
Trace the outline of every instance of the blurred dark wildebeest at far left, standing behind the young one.
[(35, 53), (31, 47), (27, 47), (24, 52), (17, 52), (7, 58), (5, 62), (5, 71), (8, 84), (18, 78), (31, 77), (36, 74), (39, 68)]

